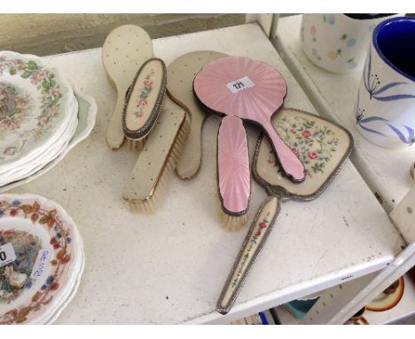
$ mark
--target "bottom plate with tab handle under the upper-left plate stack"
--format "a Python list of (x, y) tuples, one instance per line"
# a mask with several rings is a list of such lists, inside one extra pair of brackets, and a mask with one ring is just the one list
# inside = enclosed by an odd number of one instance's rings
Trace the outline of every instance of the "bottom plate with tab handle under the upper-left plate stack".
[(70, 139), (69, 144), (65, 149), (51, 162), (43, 165), (37, 171), (33, 171), (33, 174), (28, 177), (24, 177), (18, 181), (12, 182), (7, 185), (0, 186), (0, 193), (6, 192), (15, 188), (17, 186), (27, 184), (28, 182), (34, 180), (36, 177), (42, 176), (44, 173), (55, 167), (62, 159), (69, 153), (69, 151), (79, 144), (83, 139), (87, 138), (90, 135), (91, 130), (95, 125), (95, 118), (97, 115), (97, 103), (92, 97), (78, 91), (74, 87), (75, 98), (78, 101), (78, 124), (74, 136)]

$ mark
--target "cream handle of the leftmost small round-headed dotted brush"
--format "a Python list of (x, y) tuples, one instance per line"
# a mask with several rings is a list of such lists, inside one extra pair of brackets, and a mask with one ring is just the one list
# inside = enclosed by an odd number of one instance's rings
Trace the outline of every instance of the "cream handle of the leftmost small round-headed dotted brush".
[(122, 111), (124, 109), (125, 91), (118, 91), (117, 103), (115, 104), (114, 113), (106, 128), (106, 144), (114, 151), (119, 149), (124, 142), (124, 131), (122, 130)]

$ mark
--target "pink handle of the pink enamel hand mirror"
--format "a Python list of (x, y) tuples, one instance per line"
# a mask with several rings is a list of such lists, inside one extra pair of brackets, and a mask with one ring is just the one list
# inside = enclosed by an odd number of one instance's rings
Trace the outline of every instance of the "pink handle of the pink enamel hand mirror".
[(264, 130), (270, 137), (272, 148), (277, 155), (278, 162), (281, 165), (281, 169), (286, 173), (287, 177), (290, 177), (294, 182), (301, 183), (304, 180), (304, 165), (293, 150), (286, 145), (284, 140), (278, 136), (278, 133), (274, 130), (272, 124), (262, 123)]

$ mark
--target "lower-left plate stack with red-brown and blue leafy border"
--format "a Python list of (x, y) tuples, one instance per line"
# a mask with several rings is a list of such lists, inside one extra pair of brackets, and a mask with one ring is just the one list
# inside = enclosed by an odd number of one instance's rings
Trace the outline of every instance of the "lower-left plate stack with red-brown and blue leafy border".
[(0, 259), (0, 324), (43, 324), (74, 295), (83, 267), (81, 236), (56, 202), (3, 194), (0, 248), (10, 244), (14, 260)]

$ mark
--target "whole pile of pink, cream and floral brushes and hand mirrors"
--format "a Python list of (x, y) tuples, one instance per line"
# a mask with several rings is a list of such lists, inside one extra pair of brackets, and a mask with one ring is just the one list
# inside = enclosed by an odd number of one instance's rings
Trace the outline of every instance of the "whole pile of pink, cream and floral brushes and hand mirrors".
[[(195, 179), (207, 114), (222, 116), (212, 179), (223, 225), (230, 231), (247, 225), (251, 172), (270, 195), (256, 212), (217, 302), (217, 311), (226, 314), (276, 223), (280, 202), (310, 201), (323, 193), (348, 158), (353, 140), (333, 122), (283, 107), (286, 81), (265, 62), (192, 51), (165, 67), (152, 55), (150, 37), (130, 25), (114, 29), (102, 51), (118, 93), (107, 145), (117, 150), (127, 141), (137, 156), (121, 193), (131, 208), (155, 213), (159, 186), (172, 171), (181, 179)], [(163, 107), (166, 92), (176, 109)], [(246, 125), (263, 132), (253, 169)]]

